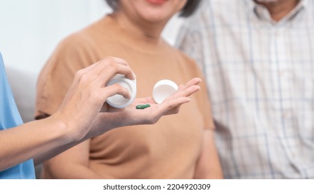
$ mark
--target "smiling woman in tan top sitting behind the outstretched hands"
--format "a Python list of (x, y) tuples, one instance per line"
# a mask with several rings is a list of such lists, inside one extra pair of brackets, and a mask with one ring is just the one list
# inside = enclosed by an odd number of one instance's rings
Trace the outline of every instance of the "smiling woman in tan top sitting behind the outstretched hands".
[[(74, 72), (112, 55), (136, 74), (137, 96), (150, 96), (160, 79), (182, 84), (202, 73), (196, 63), (160, 36), (180, 12), (190, 16), (200, 1), (107, 0), (113, 8), (91, 26), (61, 42), (41, 72), (36, 118), (61, 103)], [(206, 179), (221, 178), (206, 86), (154, 125), (125, 126), (87, 140), (46, 162), (43, 178)], [(148, 95), (147, 95), (148, 94)], [(123, 121), (123, 120), (121, 120)]]

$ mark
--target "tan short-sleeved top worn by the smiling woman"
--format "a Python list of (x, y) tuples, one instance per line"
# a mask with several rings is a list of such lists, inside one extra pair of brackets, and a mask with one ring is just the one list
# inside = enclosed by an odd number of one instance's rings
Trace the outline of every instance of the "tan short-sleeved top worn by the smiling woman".
[[(107, 56), (125, 59), (136, 74), (136, 97), (151, 96), (154, 84), (178, 85), (202, 74), (196, 63), (165, 42), (136, 37), (107, 16), (62, 41), (37, 85), (36, 118), (54, 113), (77, 70)], [(205, 82), (205, 81), (203, 81)], [(117, 128), (91, 140), (90, 168), (112, 179), (191, 179), (200, 154), (202, 131), (213, 128), (206, 87), (178, 114), (154, 125)]]

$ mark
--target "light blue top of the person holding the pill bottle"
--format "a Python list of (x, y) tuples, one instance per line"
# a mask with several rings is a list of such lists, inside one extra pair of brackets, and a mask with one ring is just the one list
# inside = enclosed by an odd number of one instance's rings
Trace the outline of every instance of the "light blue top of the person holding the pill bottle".
[[(0, 53), (0, 131), (23, 123), (12, 96)], [(1, 134), (1, 132), (0, 132)], [(2, 148), (0, 147), (0, 150)], [(1, 157), (1, 160), (6, 159)], [(35, 179), (34, 163), (31, 160), (0, 172), (0, 179)]]

